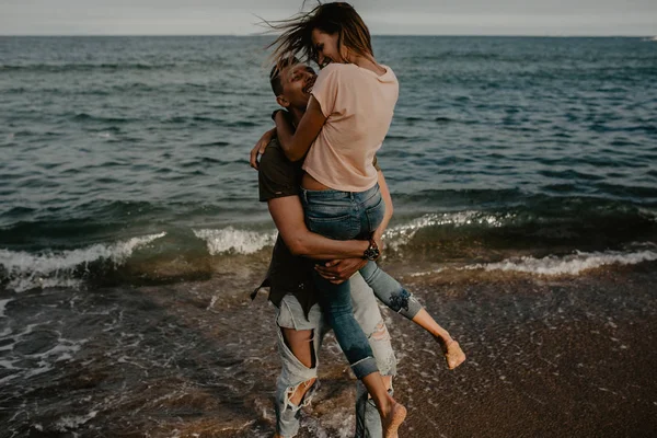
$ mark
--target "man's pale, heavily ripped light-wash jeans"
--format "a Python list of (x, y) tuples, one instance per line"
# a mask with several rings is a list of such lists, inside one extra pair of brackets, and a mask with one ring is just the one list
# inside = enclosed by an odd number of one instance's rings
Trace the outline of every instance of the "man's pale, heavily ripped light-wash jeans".
[[(351, 303), (354, 316), (362, 332), (368, 336), (369, 345), (377, 360), (377, 366), (383, 376), (394, 376), (396, 373), (396, 359), (390, 344), (390, 335), (383, 324), (381, 312), (377, 306), (374, 297), (364, 281), (362, 277), (356, 274), (349, 280), (351, 286)], [(312, 330), (312, 346), (314, 350), (315, 364), (313, 368), (303, 366), (288, 348), (278, 328), (278, 351), (283, 364), (280, 376), (276, 384), (276, 430), (285, 438), (297, 435), (299, 430), (300, 408), (310, 403), (312, 395), (319, 388), (319, 381), (310, 388), (304, 394), (301, 403), (295, 405), (290, 402), (290, 396), (304, 382), (316, 379), (319, 350), (324, 335), (330, 330), (322, 316), (319, 306), (314, 306), (308, 315), (303, 315), (303, 310), (299, 301), (292, 296), (287, 295), (277, 311), (276, 322), (278, 327), (295, 330)], [(356, 437), (357, 438), (379, 438), (382, 436), (381, 417), (369, 399), (365, 385), (358, 380), (356, 390)]]

